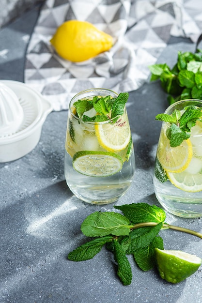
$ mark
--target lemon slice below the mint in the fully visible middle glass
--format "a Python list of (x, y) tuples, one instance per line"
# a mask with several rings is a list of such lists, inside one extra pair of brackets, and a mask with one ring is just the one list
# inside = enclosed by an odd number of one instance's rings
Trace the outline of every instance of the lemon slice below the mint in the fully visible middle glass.
[(130, 125), (127, 115), (120, 116), (115, 123), (95, 124), (95, 134), (101, 147), (109, 152), (124, 150), (130, 142)]

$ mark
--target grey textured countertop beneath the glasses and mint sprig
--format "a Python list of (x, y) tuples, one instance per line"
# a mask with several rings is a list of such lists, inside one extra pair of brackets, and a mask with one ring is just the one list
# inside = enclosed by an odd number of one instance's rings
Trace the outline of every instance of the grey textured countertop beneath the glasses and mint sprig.
[[(37, 7), (0, 30), (0, 79), (23, 81), (24, 58)], [(194, 50), (184, 39), (171, 39), (159, 62), (176, 60), (178, 50)], [(158, 83), (145, 83), (130, 92), (136, 173), (116, 204), (147, 202), (158, 205), (153, 167), (160, 122), (155, 115), (167, 107)], [(67, 111), (52, 112), (40, 142), (23, 158), (0, 163), (0, 302), (1, 303), (185, 303), (202, 302), (201, 268), (172, 285), (155, 270), (142, 272), (131, 256), (133, 279), (123, 286), (113, 256), (105, 248), (92, 260), (73, 262), (67, 254), (84, 243), (80, 225), (94, 211), (112, 211), (114, 204), (95, 206), (74, 197), (63, 174)], [(167, 223), (202, 231), (202, 219), (167, 213)], [(202, 257), (202, 241), (177, 231), (160, 232), (165, 249)]]

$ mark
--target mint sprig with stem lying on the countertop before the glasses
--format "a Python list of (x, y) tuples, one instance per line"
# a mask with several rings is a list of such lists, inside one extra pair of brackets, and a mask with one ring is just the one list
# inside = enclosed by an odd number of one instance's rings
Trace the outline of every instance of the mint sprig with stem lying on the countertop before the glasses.
[(79, 246), (68, 254), (73, 261), (92, 259), (103, 245), (114, 254), (117, 274), (124, 285), (131, 284), (132, 270), (127, 255), (133, 255), (136, 264), (143, 271), (155, 267), (155, 248), (163, 249), (163, 239), (158, 235), (161, 229), (175, 229), (195, 235), (202, 234), (165, 223), (163, 209), (147, 203), (132, 203), (114, 206), (123, 212), (93, 212), (81, 224), (81, 231), (94, 239)]

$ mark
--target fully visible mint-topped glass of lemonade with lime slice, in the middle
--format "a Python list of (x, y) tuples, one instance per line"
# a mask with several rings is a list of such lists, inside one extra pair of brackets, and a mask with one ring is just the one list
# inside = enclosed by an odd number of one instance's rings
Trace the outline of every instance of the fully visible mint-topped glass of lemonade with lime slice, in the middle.
[(132, 182), (135, 156), (127, 98), (128, 93), (89, 89), (70, 101), (64, 174), (70, 190), (85, 202), (115, 202)]

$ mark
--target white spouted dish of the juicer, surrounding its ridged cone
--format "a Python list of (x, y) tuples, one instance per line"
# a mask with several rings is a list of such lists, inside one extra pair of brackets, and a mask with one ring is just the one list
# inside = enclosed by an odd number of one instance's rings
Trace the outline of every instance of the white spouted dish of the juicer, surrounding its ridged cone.
[(19, 130), (11, 135), (0, 136), (0, 162), (8, 162), (23, 157), (38, 144), (43, 123), (52, 111), (52, 105), (40, 93), (22, 82), (0, 82), (16, 93), (24, 112)]

